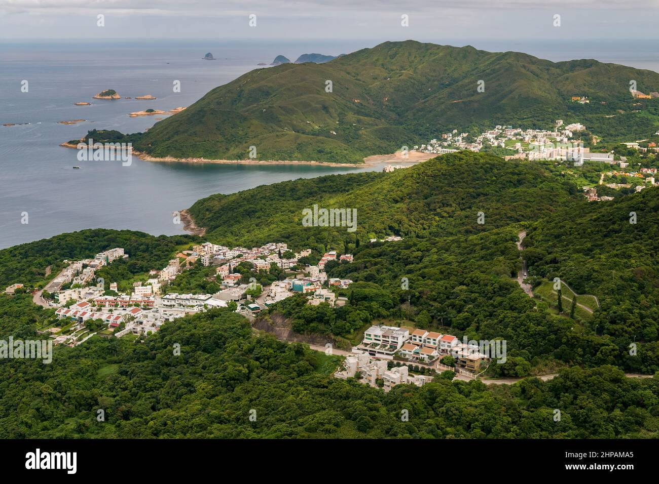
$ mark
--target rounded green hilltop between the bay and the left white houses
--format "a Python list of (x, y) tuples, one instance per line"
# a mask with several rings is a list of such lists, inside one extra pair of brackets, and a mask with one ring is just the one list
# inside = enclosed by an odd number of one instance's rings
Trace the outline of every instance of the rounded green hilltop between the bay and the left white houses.
[[(364, 242), (392, 234), (469, 235), (532, 222), (566, 203), (585, 205), (571, 182), (536, 163), (461, 151), (389, 174), (332, 175), (212, 195), (190, 207), (197, 225), (229, 244)], [(302, 227), (302, 210), (357, 209), (357, 230)], [(479, 223), (482, 212), (484, 223)]]

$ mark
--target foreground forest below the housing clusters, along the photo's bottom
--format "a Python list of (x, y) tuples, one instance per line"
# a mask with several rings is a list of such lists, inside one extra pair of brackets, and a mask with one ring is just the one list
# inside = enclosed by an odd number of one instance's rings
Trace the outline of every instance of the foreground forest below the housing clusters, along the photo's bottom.
[(384, 394), (329, 376), (336, 358), (214, 309), (143, 342), (59, 348), (51, 365), (0, 362), (0, 437), (658, 437), (659, 381), (611, 366), (513, 386), (436, 377)]

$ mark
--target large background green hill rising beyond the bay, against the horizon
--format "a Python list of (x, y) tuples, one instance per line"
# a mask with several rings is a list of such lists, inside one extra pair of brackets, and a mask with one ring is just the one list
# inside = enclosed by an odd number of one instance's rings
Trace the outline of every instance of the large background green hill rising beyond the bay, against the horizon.
[(659, 90), (656, 72), (592, 59), (385, 42), (328, 63), (252, 70), (125, 141), (156, 157), (247, 159), (254, 146), (259, 160), (360, 163), (438, 132), (496, 124), (550, 128), (564, 119), (605, 141), (643, 139), (659, 128), (659, 99), (633, 99), (630, 80)]

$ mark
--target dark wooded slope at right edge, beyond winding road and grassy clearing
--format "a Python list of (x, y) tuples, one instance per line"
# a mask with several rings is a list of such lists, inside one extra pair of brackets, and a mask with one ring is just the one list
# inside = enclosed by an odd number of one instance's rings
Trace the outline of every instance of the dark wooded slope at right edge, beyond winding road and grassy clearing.
[[(597, 296), (588, 327), (604, 335), (600, 354), (622, 354), (632, 371), (659, 365), (659, 188), (606, 203), (558, 209), (525, 238), (529, 275), (559, 277), (579, 294)], [(637, 223), (629, 223), (631, 212)], [(565, 287), (565, 286), (563, 286)], [(592, 308), (579, 298), (581, 304)], [(630, 357), (639, 344), (641, 358)]]

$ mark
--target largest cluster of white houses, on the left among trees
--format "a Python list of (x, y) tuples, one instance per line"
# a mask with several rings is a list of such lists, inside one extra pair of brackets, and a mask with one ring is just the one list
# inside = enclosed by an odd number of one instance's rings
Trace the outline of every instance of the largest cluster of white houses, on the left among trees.
[[(45, 288), (51, 299), (42, 299), (42, 306), (57, 308), (55, 315), (62, 322), (43, 329), (42, 333), (51, 333), (54, 344), (76, 346), (96, 334), (105, 337), (122, 337), (129, 333), (149, 335), (168, 321), (211, 308), (233, 308), (254, 319), (263, 309), (294, 294), (306, 295), (310, 305), (327, 302), (332, 307), (343, 306), (347, 298), (337, 297), (332, 288), (347, 288), (353, 281), (328, 279), (324, 268), (328, 261), (351, 263), (353, 255), (329, 251), (316, 265), (299, 265), (298, 259), (310, 253), (311, 250), (302, 250), (294, 254), (282, 243), (230, 249), (204, 242), (179, 253), (179, 257), (171, 259), (163, 269), (150, 271), (146, 282), (133, 282), (130, 292), (120, 292), (117, 282), (110, 282), (106, 288), (105, 281), (96, 278), (101, 267), (129, 257), (123, 248), (101, 252), (94, 259), (65, 261), (68, 267)], [(215, 279), (221, 290), (214, 294), (167, 292), (169, 283), (197, 262), (204, 267), (217, 266)], [(273, 281), (263, 288), (254, 281), (241, 282), (243, 276), (233, 271), (245, 262), (257, 273), (276, 265), (285, 269), (287, 279)], [(22, 287), (22, 284), (13, 284), (5, 292), (13, 294)], [(108, 289), (113, 295), (106, 294)]]

